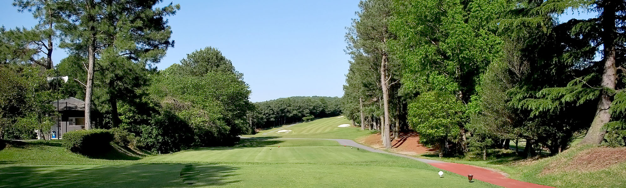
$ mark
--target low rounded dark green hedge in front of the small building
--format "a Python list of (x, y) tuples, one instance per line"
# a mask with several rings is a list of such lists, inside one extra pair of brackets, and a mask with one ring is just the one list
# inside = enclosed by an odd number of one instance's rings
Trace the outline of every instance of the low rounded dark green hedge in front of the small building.
[(105, 129), (76, 130), (63, 134), (63, 147), (83, 155), (98, 154), (111, 147), (113, 133)]

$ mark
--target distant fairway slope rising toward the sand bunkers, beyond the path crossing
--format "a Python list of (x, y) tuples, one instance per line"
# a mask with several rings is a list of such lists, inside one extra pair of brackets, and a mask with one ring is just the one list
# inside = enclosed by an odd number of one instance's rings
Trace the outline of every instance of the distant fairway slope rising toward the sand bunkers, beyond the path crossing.
[[(351, 139), (364, 137), (374, 133), (371, 130), (361, 130), (360, 127), (337, 127), (341, 124), (350, 124), (350, 120), (344, 117), (321, 118), (312, 122), (304, 122), (285, 128), (282, 127), (264, 130), (255, 135), (244, 135), (244, 137), (282, 137), (282, 138), (342, 138)], [(277, 130), (291, 130), (291, 132), (278, 133)], [(264, 135), (264, 133), (267, 133)]]

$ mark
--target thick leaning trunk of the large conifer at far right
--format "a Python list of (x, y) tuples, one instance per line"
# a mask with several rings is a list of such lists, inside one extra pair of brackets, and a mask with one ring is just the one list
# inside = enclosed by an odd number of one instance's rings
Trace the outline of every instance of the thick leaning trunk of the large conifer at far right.
[[(617, 68), (615, 68), (615, 8), (617, 6), (613, 1), (603, 7), (602, 18), (602, 39), (604, 46), (604, 73), (602, 73), (602, 88), (610, 91), (615, 90), (615, 82), (617, 81)], [(608, 109), (611, 107), (612, 98), (607, 90), (602, 90), (600, 94), (600, 102), (598, 102), (595, 117), (587, 130), (587, 135), (580, 144), (602, 144), (604, 134), (607, 130), (604, 124), (611, 120), (611, 114)]]

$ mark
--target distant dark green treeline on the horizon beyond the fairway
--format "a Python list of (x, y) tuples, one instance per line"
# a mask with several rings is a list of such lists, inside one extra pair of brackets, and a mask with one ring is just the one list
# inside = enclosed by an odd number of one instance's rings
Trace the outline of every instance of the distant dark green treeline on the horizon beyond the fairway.
[(254, 106), (256, 110), (248, 114), (252, 128), (273, 127), (341, 114), (339, 97), (287, 97), (257, 102)]

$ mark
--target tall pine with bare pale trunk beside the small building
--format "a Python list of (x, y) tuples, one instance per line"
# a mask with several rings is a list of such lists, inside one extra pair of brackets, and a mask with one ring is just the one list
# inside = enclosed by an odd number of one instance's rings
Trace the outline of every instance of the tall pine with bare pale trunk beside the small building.
[[(58, 23), (64, 38), (61, 47), (86, 55), (85, 123), (91, 122), (95, 69), (111, 68), (106, 61), (131, 60), (150, 66), (165, 54), (172, 33), (165, 16), (180, 6), (153, 8), (160, 1), (55, 1), (64, 21)], [(104, 63), (98, 64), (96, 56)], [(96, 65), (98, 64), (98, 65)], [(100, 67), (98, 67), (100, 66)], [(106, 67), (105, 67), (106, 66)], [(111, 104), (115, 105), (115, 100)], [(113, 110), (116, 111), (116, 110)], [(115, 112), (114, 112), (115, 113)]]

